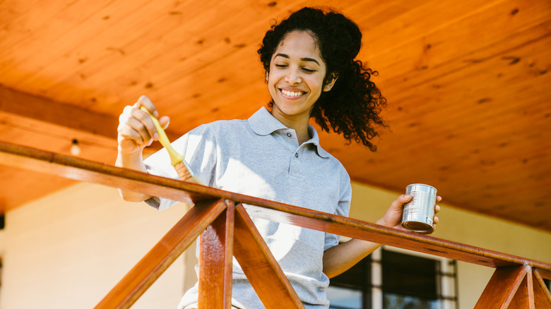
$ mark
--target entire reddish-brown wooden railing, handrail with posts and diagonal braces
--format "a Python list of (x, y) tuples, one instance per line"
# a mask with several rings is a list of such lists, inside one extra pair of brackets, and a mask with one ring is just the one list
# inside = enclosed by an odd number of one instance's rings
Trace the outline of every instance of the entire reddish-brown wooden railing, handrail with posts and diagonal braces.
[(304, 308), (252, 216), (494, 267), (475, 308), (551, 309), (545, 262), (8, 143), (0, 162), (195, 204), (95, 308), (129, 308), (199, 235), (200, 308), (231, 307), (232, 256), (266, 308)]

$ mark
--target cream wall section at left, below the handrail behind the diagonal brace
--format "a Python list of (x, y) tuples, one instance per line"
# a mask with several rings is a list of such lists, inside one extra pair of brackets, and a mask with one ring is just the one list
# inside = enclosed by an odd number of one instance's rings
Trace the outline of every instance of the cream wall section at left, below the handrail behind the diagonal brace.
[[(0, 308), (93, 308), (185, 211), (158, 212), (123, 202), (116, 189), (80, 183), (8, 212)], [(133, 308), (176, 308), (184, 256)]]

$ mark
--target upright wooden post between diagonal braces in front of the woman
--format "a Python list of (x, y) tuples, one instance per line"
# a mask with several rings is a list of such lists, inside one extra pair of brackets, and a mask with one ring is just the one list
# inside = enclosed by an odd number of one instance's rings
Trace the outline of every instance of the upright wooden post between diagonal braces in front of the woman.
[(201, 234), (199, 245), (199, 308), (230, 309), (234, 202)]

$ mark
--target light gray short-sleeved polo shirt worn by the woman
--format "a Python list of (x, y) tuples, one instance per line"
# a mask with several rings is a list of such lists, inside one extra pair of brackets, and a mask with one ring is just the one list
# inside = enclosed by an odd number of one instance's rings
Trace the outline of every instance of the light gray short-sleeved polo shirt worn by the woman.
[[(262, 107), (248, 120), (199, 126), (172, 145), (208, 186), (348, 217), (350, 177), (321, 148), (312, 126), (309, 133), (312, 138), (299, 145), (295, 131)], [(164, 149), (148, 157), (146, 166), (150, 174), (178, 178)], [(159, 210), (175, 203), (163, 198), (146, 202)], [(322, 258), (324, 250), (338, 244), (339, 236), (252, 219), (305, 307), (328, 308), (329, 280), (322, 272)], [(184, 295), (180, 308), (196, 301), (197, 286)], [(263, 308), (235, 258), (232, 305)]]

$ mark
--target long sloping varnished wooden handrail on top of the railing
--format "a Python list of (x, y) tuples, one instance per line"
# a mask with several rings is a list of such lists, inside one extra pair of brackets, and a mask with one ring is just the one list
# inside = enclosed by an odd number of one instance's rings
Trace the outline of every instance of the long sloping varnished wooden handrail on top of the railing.
[(423, 236), (409, 231), (390, 229), (357, 219), (316, 212), (302, 207), (253, 198), (195, 183), (184, 183), (174, 179), (120, 169), (115, 166), (98, 164), (61, 154), (33, 150), (28, 147), (0, 143), (0, 162), (1, 164), (17, 166), (23, 169), (33, 169), (79, 181), (99, 183), (114, 188), (138, 190), (182, 202), (223, 198), (242, 202), (247, 205), (256, 205), (257, 207), (252, 206), (247, 210), (252, 217), (262, 217), (275, 222), (292, 223), (309, 229), (328, 231), (334, 234), (449, 257), (454, 260), (488, 267), (530, 265), (531, 267), (543, 269), (543, 273), (545, 274), (551, 272), (551, 265), (545, 262)]

